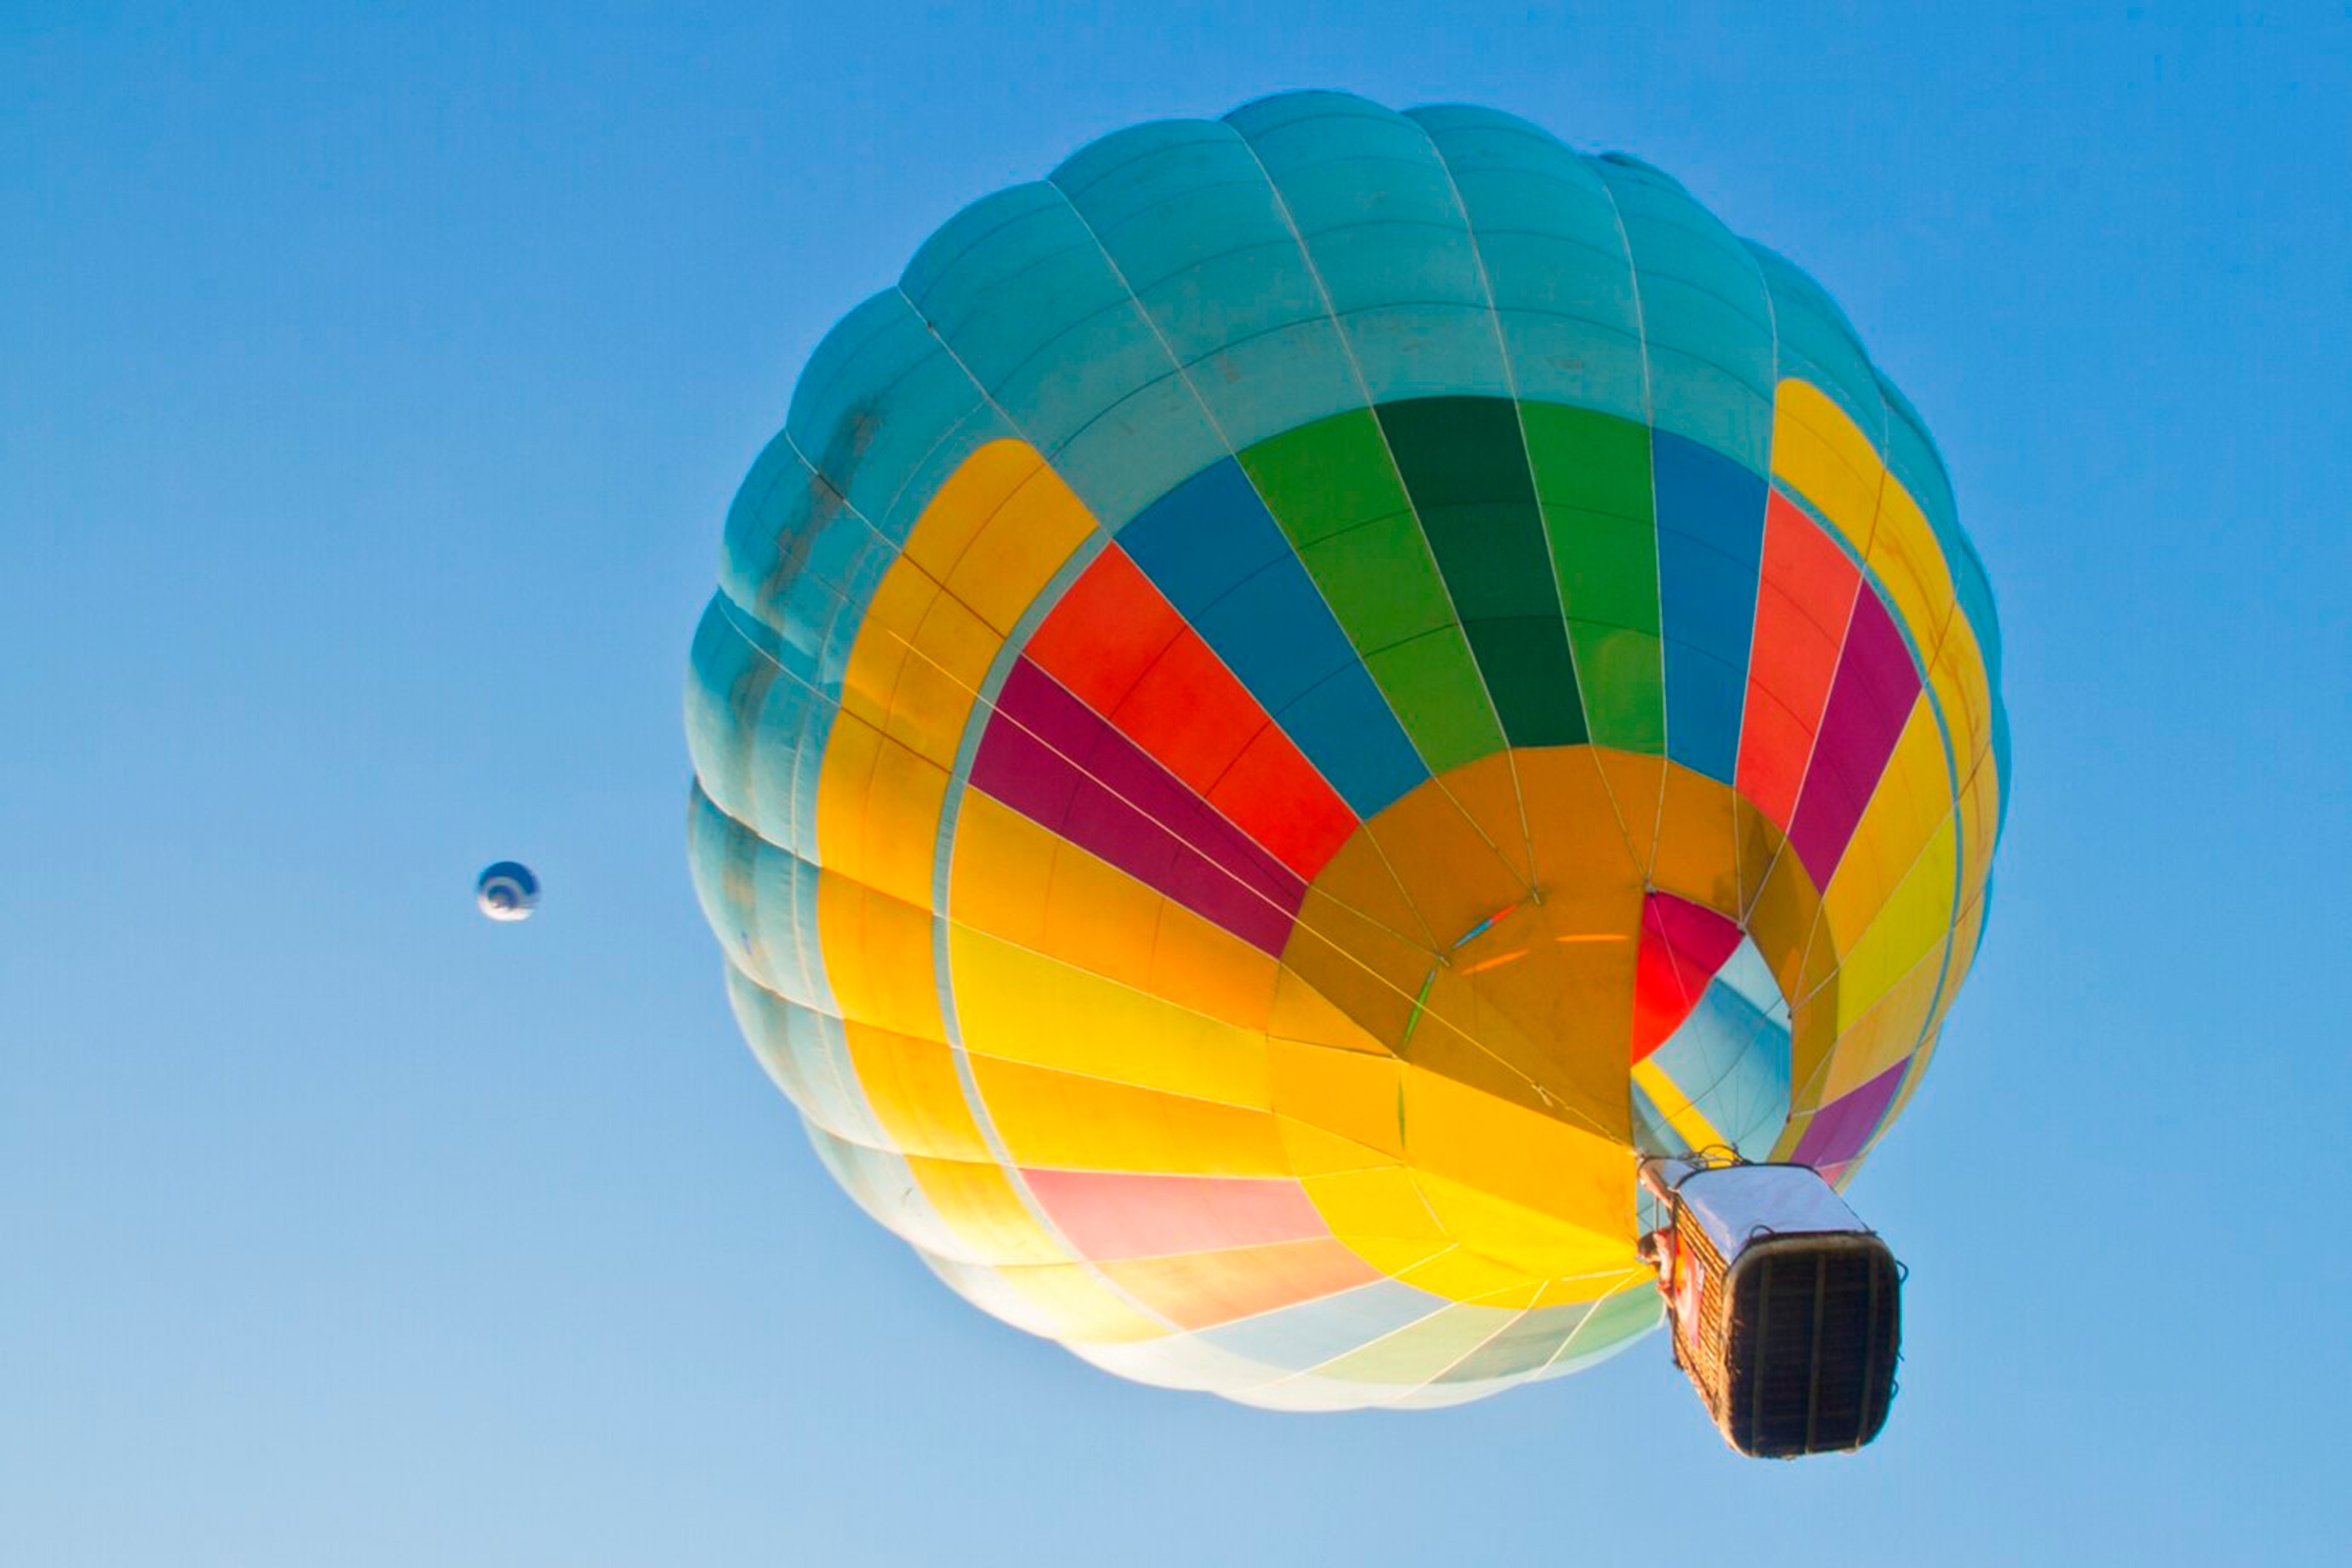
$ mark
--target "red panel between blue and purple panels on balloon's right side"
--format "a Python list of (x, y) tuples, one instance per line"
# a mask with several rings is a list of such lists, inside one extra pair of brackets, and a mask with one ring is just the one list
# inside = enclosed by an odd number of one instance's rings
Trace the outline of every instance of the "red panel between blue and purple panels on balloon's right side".
[(1748, 710), (1740, 717), (1738, 790), (1780, 830), (1797, 816), (1797, 792), (1860, 581), (1844, 550), (1773, 491), (1764, 508), (1764, 576), (1748, 661)]

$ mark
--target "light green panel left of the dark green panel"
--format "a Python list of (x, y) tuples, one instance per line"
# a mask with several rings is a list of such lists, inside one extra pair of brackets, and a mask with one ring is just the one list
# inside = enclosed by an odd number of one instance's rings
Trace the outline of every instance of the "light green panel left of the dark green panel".
[(1454, 602), (1369, 409), (1242, 454), (1357, 658), (1430, 771), (1503, 750), (1503, 729)]

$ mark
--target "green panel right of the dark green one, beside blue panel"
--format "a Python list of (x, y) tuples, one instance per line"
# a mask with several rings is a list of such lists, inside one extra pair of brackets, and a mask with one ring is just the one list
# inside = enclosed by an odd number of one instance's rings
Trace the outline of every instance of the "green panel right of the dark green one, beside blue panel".
[(1519, 407), (1543, 496), (1559, 602), (1583, 679), (1592, 741), (1665, 750), (1658, 644), (1658, 529), (1649, 430), (1611, 414), (1548, 402)]

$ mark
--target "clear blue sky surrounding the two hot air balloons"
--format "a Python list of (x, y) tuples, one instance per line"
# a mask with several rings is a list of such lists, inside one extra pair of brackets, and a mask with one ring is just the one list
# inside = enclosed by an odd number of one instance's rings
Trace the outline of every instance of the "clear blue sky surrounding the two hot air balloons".
[[(2340, 1561), (2347, 61), (2171, 0), (0, 5), (0, 1561)], [(1952, 465), (2016, 804), (1853, 1190), (1912, 1267), (1858, 1458), (1736, 1460), (1658, 1340), (1430, 1415), (1117, 1382), (727, 1016), (680, 689), (802, 357), (967, 200), (1305, 85), (1665, 167)]]

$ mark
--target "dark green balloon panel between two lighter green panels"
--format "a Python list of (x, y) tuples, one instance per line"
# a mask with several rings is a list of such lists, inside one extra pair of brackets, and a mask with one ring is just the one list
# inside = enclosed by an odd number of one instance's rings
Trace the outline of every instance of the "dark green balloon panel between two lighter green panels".
[(1543, 512), (1501, 397), (1414, 397), (1381, 428), (1512, 745), (1576, 745), (1585, 710)]

